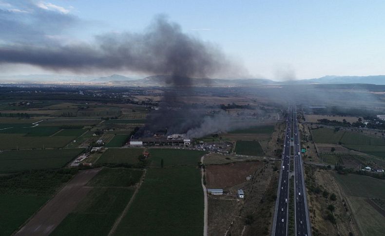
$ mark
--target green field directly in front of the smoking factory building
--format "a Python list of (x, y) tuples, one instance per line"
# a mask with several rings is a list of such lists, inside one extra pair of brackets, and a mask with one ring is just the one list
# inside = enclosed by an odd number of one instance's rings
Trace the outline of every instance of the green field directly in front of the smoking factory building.
[(150, 165), (152, 167), (161, 167), (162, 159), (163, 166), (166, 167), (174, 165), (197, 165), (200, 158), (207, 152), (171, 148), (151, 148), (149, 149), (149, 153)]

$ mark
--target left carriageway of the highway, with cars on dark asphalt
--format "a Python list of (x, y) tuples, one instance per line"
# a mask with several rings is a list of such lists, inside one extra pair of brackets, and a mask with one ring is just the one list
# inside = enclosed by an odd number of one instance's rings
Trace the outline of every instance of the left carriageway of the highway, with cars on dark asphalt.
[(291, 116), (287, 119), (285, 144), (282, 154), (281, 174), (278, 183), (277, 200), (275, 202), (275, 213), (272, 227), (272, 236), (286, 236), (288, 234), (289, 213), (289, 166), (290, 166), (290, 133)]

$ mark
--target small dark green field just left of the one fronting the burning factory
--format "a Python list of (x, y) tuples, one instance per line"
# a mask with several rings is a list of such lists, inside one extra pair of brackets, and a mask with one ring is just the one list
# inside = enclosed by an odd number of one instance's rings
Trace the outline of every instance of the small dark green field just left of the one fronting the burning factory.
[(108, 148), (96, 161), (102, 163), (139, 163), (139, 156), (143, 154), (143, 148)]

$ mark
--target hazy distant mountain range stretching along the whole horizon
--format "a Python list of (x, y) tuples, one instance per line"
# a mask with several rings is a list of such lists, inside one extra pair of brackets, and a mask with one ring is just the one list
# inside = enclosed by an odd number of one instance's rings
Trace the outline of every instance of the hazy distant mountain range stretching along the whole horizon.
[[(176, 85), (193, 86), (256, 86), (256, 85), (279, 85), (279, 84), (377, 84), (385, 85), (385, 75), (370, 76), (335, 76), (327, 75), (320, 78), (301, 79), (277, 82), (270, 79), (249, 78), (249, 79), (208, 79), (208, 78), (187, 78), (177, 77)], [(0, 83), (95, 83), (116, 86), (167, 86), (172, 83), (170, 75), (153, 75), (149, 77), (124, 76), (113, 74), (110, 76), (73, 76), (73, 75), (52, 75), (52, 74), (31, 74), (0, 76)]]

